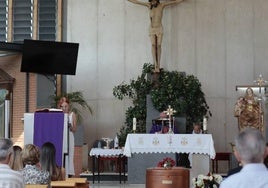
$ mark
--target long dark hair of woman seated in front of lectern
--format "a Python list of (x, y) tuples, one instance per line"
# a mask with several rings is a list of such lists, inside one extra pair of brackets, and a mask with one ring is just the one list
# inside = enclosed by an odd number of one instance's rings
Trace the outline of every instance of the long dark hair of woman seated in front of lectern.
[(51, 180), (57, 180), (56, 148), (53, 143), (46, 142), (41, 147), (40, 164), (42, 170), (50, 173)]

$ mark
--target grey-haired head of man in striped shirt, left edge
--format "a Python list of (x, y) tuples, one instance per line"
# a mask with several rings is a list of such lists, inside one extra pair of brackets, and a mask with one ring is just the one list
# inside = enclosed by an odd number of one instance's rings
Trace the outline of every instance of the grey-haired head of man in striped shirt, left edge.
[(8, 164), (13, 152), (13, 142), (7, 138), (0, 138), (0, 163)]

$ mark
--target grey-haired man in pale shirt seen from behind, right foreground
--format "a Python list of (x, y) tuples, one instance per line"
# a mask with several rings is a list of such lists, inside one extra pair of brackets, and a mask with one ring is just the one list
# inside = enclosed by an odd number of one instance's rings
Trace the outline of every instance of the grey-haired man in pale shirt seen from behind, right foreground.
[(263, 164), (267, 155), (266, 143), (261, 132), (247, 128), (235, 139), (234, 155), (243, 168), (221, 184), (220, 188), (267, 188), (268, 170)]

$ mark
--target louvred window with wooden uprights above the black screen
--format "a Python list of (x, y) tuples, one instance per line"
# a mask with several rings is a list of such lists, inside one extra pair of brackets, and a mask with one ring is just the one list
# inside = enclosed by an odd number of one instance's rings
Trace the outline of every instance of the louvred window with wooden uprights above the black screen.
[(59, 28), (58, 1), (61, 2), (61, 0), (0, 0), (0, 41), (15, 43), (22, 43), (24, 39), (56, 41)]

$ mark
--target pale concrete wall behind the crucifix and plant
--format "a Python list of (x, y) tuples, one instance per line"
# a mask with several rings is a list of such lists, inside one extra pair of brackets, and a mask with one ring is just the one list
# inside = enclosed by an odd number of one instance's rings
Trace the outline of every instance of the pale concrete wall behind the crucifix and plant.
[[(146, 7), (127, 0), (68, 0), (64, 30), (79, 42), (76, 76), (68, 91), (83, 91), (94, 114), (85, 119), (89, 146), (114, 137), (130, 101), (119, 101), (114, 86), (140, 75), (152, 62)], [(213, 116), (208, 121), (216, 151), (231, 151), (238, 133), (233, 107), (236, 85), (268, 79), (267, 0), (185, 0), (164, 10), (161, 67), (194, 74)]]

